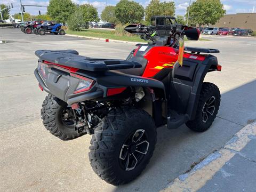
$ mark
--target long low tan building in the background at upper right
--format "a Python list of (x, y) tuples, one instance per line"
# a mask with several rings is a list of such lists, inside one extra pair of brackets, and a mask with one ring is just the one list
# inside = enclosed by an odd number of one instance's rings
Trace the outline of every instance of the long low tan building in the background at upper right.
[[(256, 31), (256, 13), (226, 14), (213, 26), (227, 28), (239, 27), (241, 29), (252, 29)], [(213, 26), (209, 25), (209, 27)]]

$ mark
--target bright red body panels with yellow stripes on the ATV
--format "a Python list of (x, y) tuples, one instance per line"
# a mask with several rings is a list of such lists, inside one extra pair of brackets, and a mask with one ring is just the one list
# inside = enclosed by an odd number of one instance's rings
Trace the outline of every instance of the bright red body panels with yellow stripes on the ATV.
[[(138, 49), (134, 52), (134, 56)], [(204, 55), (186, 52), (183, 57), (200, 61), (205, 59)], [(173, 68), (174, 63), (178, 60), (178, 50), (169, 46), (154, 46), (144, 55), (144, 58), (148, 60), (148, 63), (142, 77), (153, 77), (163, 68)]]

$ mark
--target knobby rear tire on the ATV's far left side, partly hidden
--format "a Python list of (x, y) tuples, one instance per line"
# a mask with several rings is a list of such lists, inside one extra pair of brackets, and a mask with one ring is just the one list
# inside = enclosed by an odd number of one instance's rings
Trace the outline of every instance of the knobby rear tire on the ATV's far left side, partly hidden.
[(41, 109), (41, 118), (45, 128), (61, 140), (71, 140), (86, 134), (85, 130), (78, 133), (72, 121), (63, 120), (63, 115), (65, 115), (63, 111), (66, 113), (68, 109), (66, 102), (51, 94), (46, 96)]

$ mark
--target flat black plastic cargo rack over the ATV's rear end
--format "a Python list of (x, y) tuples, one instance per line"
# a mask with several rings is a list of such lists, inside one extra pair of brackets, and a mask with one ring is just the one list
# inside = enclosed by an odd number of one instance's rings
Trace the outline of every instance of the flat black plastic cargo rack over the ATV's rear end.
[(119, 59), (97, 59), (78, 55), (75, 50), (37, 50), (35, 55), (40, 61), (49, 61), (59, 65), (88, 70), (107, 71), (117, 69), (141, 68), (141, 64), (135, 61)]

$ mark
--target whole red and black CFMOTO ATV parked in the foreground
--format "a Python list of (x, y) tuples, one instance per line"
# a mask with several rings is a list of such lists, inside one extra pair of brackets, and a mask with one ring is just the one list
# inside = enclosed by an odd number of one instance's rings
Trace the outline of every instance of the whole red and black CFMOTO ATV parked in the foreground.
[(207, 73), (221, 70), (209, 54), (219, 51), (184, 47), (183, 37), (197, 40), (199, 31), (175, 18), (153, 21), (126, 27), (151, 40), (137, 44), (126, 60), (84, 57), (75, 50), (35, 52), (35, 76), (49, 93), (41, 110), (44, 126), (61, 140), (92, 134), (91, 166), (113, 185), (130, 182), (145, 169), (157, 127), (186, 123), (203, 132), (220, 106), (218, 87), (203, 82)]

